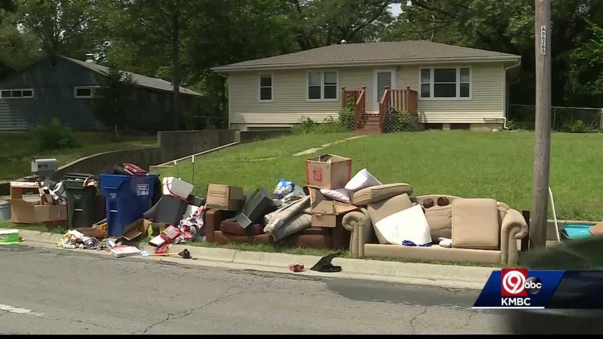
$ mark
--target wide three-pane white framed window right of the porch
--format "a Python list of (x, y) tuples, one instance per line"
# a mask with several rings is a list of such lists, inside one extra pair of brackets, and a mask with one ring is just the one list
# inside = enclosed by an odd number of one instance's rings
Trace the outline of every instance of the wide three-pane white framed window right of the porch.
[(419, 100), (472, 100), (472, 68), (419, 69)]

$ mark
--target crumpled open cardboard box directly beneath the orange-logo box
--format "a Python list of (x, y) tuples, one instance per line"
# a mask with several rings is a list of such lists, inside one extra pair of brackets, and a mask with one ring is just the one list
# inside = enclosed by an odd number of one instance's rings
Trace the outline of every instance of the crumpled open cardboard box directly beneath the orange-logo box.
[(306, 187), (310, 195), (310, 208), (312, 209), (312, 226), (331, 227), (337, 226), (341, 222), (341, 215), (358, 209), (353, 204), (342, 203), (341, 201), (330, 200), (325, 197), (320, 189)]

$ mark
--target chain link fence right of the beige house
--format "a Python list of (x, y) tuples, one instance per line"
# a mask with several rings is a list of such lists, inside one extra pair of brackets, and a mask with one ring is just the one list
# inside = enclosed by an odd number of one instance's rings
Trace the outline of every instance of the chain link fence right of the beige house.
[[(516, 128), (534, 130), (534, 105), (509, 105), (509, 120)], [(507, 124), (508, 125), (508, 124)], [(551, 128), (555, 131), (594, 131), (603, 129), (603, 109), (551, 107)]]

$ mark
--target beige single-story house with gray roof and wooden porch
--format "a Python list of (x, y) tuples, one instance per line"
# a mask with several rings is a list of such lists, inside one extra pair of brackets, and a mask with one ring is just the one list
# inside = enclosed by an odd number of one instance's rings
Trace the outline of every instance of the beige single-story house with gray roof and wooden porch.
[(230, 128), (239, 130), (336, 119), (350, 96), (368, 116), (394, 106), (432, 128), (490, 129), (505, 124), (520, 62), (519, 55), (400, 41), (342, 43), (212, 70), (228, 77)]

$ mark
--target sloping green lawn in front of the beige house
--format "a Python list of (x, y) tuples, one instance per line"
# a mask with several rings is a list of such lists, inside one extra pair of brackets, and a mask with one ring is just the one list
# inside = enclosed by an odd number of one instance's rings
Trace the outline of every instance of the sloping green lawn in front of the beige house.
[[(293, 135), (197, 157), (195, 194), (205, 196), (208, 183), (242, 186), (246, 192), (257, 187), (272, 191), (281, 178), (305, 185), (305, 159), (332, 153), (351, 157), (353, 171), (368, 168), (381, 182), (410, 183), (415, 195), (491, 197), (518, 210), (531, 208), (532, 132), (388, 133), (291, 155), (350, 135)], [(602, 145), (601, 133), (552, 134), (551, 188), (558, 218), (603, 220)], [(189, 161), (161, 173), (192, 182)]]

